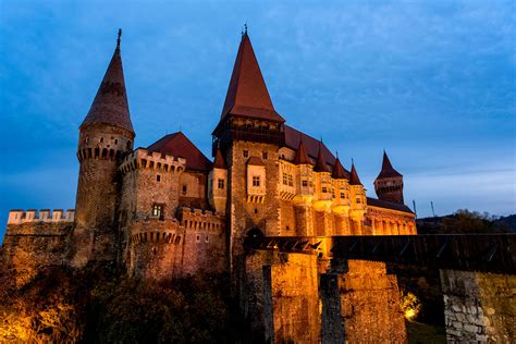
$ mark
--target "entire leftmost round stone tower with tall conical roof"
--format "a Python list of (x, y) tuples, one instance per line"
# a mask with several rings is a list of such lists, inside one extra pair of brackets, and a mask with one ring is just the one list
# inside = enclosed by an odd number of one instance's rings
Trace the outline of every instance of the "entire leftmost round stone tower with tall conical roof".
[[(122, 157), (133, 150), (135, 137), (125, 93), (120, 36), (121, 30), (108, 70), (79, 126), (75, 235), (87, 238), (89, 244), (82, 243), (85, 250), (91, 253), (95, 246), (96, 259), (107, 258), (114, 245), (111, 241), (115, 241), (114, 218), (120, 194), (118, 168)], [(89, 259), (86, 256), (79, 259)]]

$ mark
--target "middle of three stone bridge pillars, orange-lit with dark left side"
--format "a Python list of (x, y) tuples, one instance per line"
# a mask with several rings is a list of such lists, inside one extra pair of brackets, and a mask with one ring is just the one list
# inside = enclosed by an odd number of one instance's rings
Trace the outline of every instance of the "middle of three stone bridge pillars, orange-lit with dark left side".
[(405, 343), (395, 275), (385, 263), (333, 259), (320, 278), (322, 343)]

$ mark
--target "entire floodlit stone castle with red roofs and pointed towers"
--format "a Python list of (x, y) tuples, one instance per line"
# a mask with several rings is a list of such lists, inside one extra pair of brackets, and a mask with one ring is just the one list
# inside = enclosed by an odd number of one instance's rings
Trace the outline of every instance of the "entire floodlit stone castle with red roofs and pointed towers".
[(232, 271), (246, 236), (416, 234), (403, 176), (383, 153), (366, 196), (328, 147), (285, 124), (247, 33), (242, 36), (213, 161), (182, 133), (134, 148), (120, 33), (79, 126), (75, 210), (12, 210), (3, 263), (23, 284), (40, 267), (116, 261), (132, 275)]

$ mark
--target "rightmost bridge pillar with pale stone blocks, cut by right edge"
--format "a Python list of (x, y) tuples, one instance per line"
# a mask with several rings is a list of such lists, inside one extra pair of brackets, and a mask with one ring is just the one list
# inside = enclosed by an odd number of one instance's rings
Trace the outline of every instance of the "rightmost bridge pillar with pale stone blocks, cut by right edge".
[(447, 342), (516, 339), (516, 275), (440, 270)]

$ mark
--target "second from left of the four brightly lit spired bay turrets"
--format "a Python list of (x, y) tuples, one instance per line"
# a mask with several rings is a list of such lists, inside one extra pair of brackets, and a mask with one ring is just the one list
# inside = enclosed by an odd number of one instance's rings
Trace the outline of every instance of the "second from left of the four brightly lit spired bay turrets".
[(316, 165), (314, 167), (316, 175), (316, 200), (314, 201), (315, 210), (315, 235), (331, 235), (331, 204), (332, 204), (332, 180), (331, 170), (322, 152), (322, 144), (319, 143), (319, 151), (317, 153)]

